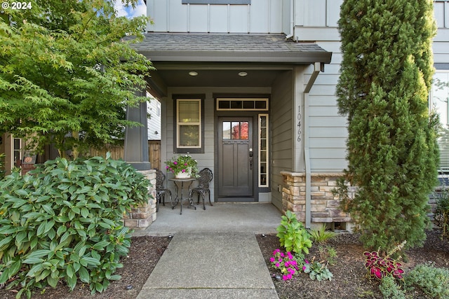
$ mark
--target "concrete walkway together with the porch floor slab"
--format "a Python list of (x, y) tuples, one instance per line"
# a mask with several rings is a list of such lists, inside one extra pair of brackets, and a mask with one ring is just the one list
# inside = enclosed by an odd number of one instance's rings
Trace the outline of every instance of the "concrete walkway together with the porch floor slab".
[(138, 298), (278, 298), (256, 234), (275, 233), (281, 212), (272, 204), (198, 205), (182, 215), (168, 205), (147, 230), (173, 235)]

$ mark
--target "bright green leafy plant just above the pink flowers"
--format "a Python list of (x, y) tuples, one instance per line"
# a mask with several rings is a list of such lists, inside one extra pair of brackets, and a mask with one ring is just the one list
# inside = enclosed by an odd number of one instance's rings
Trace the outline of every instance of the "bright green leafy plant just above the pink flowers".
[(286, 211), (285, 216), (281, 216), (281, 224), (276, 228), (281, 246), (286, 251), (302, 254), (302, 251), (309, 253), (311, 239), (309, 232), (302, 223), (297, 221), (296, 215), (291, 211)]

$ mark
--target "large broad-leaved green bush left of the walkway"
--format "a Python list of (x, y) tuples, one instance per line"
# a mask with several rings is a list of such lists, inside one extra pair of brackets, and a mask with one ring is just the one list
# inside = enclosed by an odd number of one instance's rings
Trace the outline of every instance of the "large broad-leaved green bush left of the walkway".
[(58, 281), (73, 289), (79, 279), (95, 293), (120, 279), (113, 273), (130, 246), (122, 217), (147, 202), (149, 181), (110, 155), (58, 158), (30, 174), (0, 181), (0, 284), (29, 298)]

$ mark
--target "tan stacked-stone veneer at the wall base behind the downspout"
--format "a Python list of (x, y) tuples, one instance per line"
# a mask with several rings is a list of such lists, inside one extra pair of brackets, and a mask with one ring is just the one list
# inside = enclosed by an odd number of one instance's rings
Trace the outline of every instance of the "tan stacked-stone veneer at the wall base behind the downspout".
[[(281, 172), (285, 186), (282, 190), (283, 212), (293, 211), (297, 220), (306, 219), (306, 174), (304, 172)], [(342, 173), (311, 174), (311, 222), (332, 223), (351, 222), (349, 214), (340, 209), (340, 200), (332, 190)], [(349, 188), (349, 196), (354, 196), (355, 188)]]

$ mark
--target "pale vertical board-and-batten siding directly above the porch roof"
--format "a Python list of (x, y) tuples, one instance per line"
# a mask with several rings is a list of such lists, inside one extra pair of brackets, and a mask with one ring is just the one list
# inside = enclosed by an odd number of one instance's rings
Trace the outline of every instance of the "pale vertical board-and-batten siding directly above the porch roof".
[(290, 27), (290, 0), (244, 5), (148, 0), (147, 16), (153, 21), (149, 32), (283, 33)]

